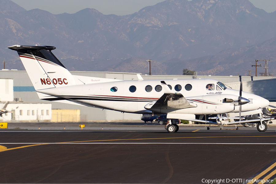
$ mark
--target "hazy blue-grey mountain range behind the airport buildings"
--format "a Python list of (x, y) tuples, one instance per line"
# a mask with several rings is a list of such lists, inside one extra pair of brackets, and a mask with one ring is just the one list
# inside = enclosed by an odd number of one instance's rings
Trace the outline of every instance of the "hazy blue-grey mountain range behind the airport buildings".
[(40, 44), (55, 46), (69, 70), (146, 74), (153, 59), (154, 74), (248, 75), (266, 58), (276, 74), (275, 30), (276, 12), (249, 0), (166, 0), (125, 16), (89, 8), (55, 15), (0, 0), (0, 59), (9, 69), (24, 67), (8, 46)]

